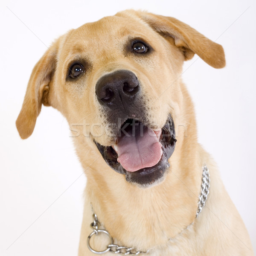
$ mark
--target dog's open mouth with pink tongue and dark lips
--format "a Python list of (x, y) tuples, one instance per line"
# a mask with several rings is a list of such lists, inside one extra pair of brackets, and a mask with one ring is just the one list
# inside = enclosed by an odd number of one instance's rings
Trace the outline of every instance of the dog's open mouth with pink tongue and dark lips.
[(176, 141), (174, 122), (169, 115), (159, 130), (153, 130), (137, 119), (127, 119), (112, 146), (94, 142), (114, 171), (125, 175), (128, 182), (148, 186), (163, 179)]

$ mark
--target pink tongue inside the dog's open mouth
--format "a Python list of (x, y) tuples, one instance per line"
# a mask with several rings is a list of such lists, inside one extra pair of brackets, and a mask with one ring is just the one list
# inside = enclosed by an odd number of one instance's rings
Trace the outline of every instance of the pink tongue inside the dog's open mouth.
[(143, 129), (140, 125), (134, 126), (118, 139), (117, 161), (128, 172), (156, 165), (163, 154), (159, 132), (157, 135), (145, 126)]

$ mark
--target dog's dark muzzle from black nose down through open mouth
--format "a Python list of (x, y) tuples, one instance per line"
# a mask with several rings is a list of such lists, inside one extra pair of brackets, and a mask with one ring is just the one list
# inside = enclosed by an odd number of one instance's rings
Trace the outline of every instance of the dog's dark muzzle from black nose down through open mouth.
[(176, 143), (172, 116), (162, 129), (150, 127), (140, 81), (131, 71), (102, 76), (96, 96), (113, 124), (112, 146), (94, 140), (106, 163), (131, 183), (148, 186), (162, 180)]

